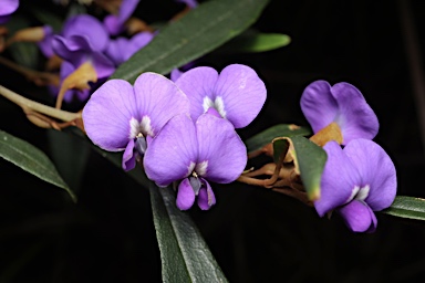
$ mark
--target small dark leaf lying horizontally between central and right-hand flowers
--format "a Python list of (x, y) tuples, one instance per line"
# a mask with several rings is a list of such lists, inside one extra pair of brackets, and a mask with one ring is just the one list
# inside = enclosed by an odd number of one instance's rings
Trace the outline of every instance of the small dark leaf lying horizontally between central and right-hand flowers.
[(248, 138), (245, 144), (247, 145), (248, 153), (252, 153), (270, 144), (276, 137), (307, 136), (310, 134), (310, 129), (304, 127), (279, 124)]

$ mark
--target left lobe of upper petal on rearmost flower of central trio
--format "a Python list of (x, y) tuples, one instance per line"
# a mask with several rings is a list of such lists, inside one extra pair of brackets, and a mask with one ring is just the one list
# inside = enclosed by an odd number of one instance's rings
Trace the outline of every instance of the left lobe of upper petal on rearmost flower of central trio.
[(182, 74), (176, 85), (190, 101), (190, 116), (196, 120), (208, 108), (209, 102), (214, 102), (214, 87), (218, 73), (212, 67), (198, 66)]

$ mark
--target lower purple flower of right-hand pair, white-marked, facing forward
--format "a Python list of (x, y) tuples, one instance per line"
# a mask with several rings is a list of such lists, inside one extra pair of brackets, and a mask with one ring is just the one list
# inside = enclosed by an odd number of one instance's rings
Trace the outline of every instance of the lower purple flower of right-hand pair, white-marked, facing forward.
[(319, 216), (336, 210), (354, 232), (373, 232), (380, 211), (394, 201), (397, 179), (388, 155), (372, 140), (354, 139), (344, 149), (329, 142), (321, 179), (321, 198), (314, 202)]

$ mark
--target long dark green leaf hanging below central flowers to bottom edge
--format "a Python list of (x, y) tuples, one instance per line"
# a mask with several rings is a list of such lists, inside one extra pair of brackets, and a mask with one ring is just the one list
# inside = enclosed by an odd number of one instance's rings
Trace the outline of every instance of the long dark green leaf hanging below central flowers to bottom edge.
[(149, 186), (163, 282), (227, 282), (187, 212), (170, 188)]

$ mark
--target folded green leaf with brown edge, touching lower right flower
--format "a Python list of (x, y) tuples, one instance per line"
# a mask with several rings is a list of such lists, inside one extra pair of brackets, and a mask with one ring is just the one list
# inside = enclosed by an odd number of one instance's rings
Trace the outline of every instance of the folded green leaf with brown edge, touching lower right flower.
[(291, 140), (296, 167), (300, 170), (307, 195), (310, 200), (317, 200), (320, 198), (320, 180), (328, 159), (326, 153), (305, 137), (294, 136)]

